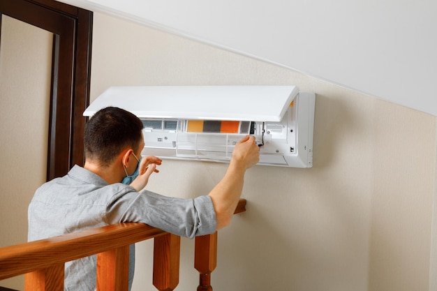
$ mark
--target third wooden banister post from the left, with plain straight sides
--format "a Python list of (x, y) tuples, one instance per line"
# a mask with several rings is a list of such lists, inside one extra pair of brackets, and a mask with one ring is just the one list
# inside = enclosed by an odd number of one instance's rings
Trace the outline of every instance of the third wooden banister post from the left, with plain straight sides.
[(171, 291), (179, 284), (179, 255), (181, 237), (164, 234), (154, 239), (154, 286), (160, 291)]

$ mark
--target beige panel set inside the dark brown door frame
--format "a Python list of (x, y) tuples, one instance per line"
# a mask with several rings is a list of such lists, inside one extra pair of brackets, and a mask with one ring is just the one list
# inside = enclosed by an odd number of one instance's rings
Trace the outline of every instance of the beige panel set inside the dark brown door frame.
[[(0, 246), (27, 241), (27, 205), (45, 181), (52, 33), (2, 16)], [(22, 279), (1, 281), (22, 288)]]

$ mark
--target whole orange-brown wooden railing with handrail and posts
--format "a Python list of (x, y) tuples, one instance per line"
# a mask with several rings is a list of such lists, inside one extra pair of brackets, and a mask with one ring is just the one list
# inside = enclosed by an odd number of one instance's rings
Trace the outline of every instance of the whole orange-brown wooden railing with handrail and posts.
[[(235, 214), (246, 211), (239, 200)], [(64, 290), (64, 264), (97, 254), (97, 290), (128, 290), (129, 245), (154, 238), (153, 285), (174, 290), (179, 283), (180, 237), (143, 223), (119, 223), (0, 248), (0, 280), (26, 274), (24, 290)], [(217, 232), (195, 237), (197, 290), (212, 290)]]

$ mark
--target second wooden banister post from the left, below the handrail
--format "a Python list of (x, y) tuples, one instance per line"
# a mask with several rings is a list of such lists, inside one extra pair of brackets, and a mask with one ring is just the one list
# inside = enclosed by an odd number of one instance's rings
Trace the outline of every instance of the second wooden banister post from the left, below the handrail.
[(97, 291), (128, 291), (129, 246), (97, 254)]

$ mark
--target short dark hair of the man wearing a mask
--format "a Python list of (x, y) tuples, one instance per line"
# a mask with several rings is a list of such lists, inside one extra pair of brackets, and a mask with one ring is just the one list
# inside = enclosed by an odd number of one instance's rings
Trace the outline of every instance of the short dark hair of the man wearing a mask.
[(103, 108), (85, 125), (85, 156), (107, 166), (126, 147), (138, 150), (141, 130), (142, 121), (131, 112), (117, 107)]

